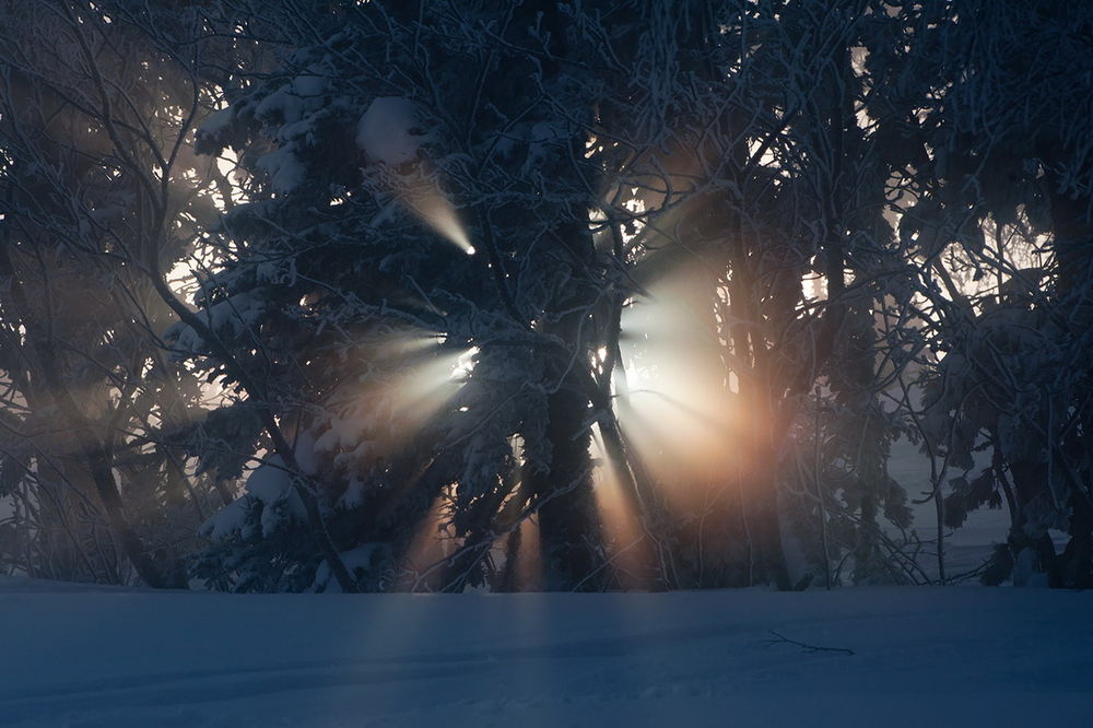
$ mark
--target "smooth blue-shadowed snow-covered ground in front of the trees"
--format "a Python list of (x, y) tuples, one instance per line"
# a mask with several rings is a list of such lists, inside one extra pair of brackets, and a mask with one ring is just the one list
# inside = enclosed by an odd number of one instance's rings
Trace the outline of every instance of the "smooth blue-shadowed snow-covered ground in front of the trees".
[(984, 587), (233, 596), (8, 578), (0, 724), (1088, 726), (1091, 615), (1093, 592)]

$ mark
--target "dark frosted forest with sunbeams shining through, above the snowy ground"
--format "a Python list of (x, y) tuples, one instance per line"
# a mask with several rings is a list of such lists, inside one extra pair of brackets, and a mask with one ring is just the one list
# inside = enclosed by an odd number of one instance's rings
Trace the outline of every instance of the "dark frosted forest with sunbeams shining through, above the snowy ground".
[(0, 571), (1091, 587), (1091, 118), (1084, 2), (9, 0)]

